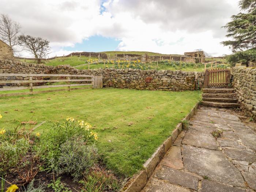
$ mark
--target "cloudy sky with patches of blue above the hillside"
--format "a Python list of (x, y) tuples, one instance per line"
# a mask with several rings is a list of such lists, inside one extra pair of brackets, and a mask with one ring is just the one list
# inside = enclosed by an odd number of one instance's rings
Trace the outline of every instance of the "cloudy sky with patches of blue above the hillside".
[(0, 14), (19, 22), (21, 33), (50, 41), (50, 57), (195, 49), (222, 56), (231, 50), (220, 44), (227, 40), (221, 27), (239, 12), (238, 0), (0, 0)]

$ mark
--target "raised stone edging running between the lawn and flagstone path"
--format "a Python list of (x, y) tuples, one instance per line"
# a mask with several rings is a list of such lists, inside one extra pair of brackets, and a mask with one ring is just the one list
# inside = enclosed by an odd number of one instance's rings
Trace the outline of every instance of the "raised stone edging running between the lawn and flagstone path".
[[(190, 113), (182, 119), (182, 122), (184, 120), (189, 121), (193, 115), (196, 113), (196, 110), (199, 106), (199, 102), (191, 109)], [(167, 138), (161, 146), (157, 148), (155, 153), (152, 155), (151, 158), (149, 158), (143, 165), (144, 169), (140, 171), (138, 174), (133, 176), (120, 190), (120, 192), (140, 192), (143, 187), (147, 184), (148, 179), (151, 177), (152, 173), (155, 170), (155, 167), (158, 165), (158, 163), (162, 160), (163, 156), (166, 154), (166, 152), (169, 150), (169, 148), (172, 146), (172, 144), (177, 139), (178, 135), (180, 134), (181, 130), (186, 128), (186, 124), (184, 123), (178, 123), (176, 125), (176, 128), (172, 131), (172, 136)]]

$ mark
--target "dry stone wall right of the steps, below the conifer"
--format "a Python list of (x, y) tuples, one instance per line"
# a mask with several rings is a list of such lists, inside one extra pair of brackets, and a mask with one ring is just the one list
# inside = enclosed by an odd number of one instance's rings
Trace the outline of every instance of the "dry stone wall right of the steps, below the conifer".
[(256, 68), (234, 67), (231, 74), (241, 109), (256, 119)]

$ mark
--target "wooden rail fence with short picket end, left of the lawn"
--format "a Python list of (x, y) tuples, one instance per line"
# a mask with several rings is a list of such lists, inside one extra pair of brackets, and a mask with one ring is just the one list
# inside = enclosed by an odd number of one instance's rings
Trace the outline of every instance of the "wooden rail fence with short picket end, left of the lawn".
[[(65, 91), (65, 90), (70, 91), (75, 89), (89, 89), (89, 88), (101, 89), (103, 87), (102, 75), (97, 76), (97, 75), (71, 75), (71, 74), (2, 73), (0, 74), (0, 77), (5, 77), (5, 79), (7, 78), (7, 80), (0, 80), (0, 85), (2, 85), (2, 88), (0, 88), (0, 92), (12, 91), (12, 90), (29, 90), (29, 92), (22, 92), (22, 93), (0, 94), (0, 97), (48, 93), (53, 91)], [(16, 80), (16, 77), (22, 77), (23, 80)], [(54, 78), (54, 79), (50, 79), (50, 78)], [(67, 84), (45, 85), (46, 83), (54, 83), (54, 82), (66, 82)], [(73, 84), (71, 84), (71, 82), (73, 82)], [(34, 84), (41, 83), (43, 85), (35, 86), (33, 85), (33, 83)], [(86, 87), (79, 87), (79, 86), (86, 86)], [(91, 86), (91, 87), (88, 87), (88, 86)], [(67, 89), (34, 91), (34, 89), (53, 88), (53, 87), (67, 87)]]

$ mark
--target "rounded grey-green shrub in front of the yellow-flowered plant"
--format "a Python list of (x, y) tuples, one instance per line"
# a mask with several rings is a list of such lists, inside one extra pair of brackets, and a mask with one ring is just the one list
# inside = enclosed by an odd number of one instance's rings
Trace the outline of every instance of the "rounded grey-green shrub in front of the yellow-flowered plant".
[(86, 145), (83, 138), (67, 140), (60, 148), (58, 173), (69, 173), (74, 180), (87, 174), (97, 162), (97, 149), (92, 145)]

